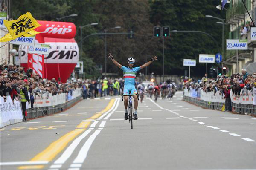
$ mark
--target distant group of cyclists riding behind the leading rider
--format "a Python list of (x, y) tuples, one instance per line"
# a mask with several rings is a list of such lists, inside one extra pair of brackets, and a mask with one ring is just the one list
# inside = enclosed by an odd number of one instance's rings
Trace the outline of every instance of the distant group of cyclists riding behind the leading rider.
[(148, 84), (148, 86), (145, 87), (143, 83), (139, 83), (137, 85), (137, 92), (140, 96), (140, 102), (142, 103), (145, 93), (147, 93), (147, 98), (152, 98), (152, 95), (154, 94), (154, 101), (157, 101), (157, 98), (162, 99), (172, 99), (173, 95), (177, 91), (177, 86), (174, 81), (167, 80), (164, 81), (162, 84), (158, 85), (156, 84)]

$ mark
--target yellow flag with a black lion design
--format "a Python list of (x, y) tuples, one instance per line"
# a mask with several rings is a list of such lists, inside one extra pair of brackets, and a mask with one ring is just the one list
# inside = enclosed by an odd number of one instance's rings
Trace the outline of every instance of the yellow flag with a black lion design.
[(30, 12), (21, 15), (17, 20), (4, 20), (3, 23), (12, 35), (13, 40), (41, 26), (35, 18), (32, 17)]

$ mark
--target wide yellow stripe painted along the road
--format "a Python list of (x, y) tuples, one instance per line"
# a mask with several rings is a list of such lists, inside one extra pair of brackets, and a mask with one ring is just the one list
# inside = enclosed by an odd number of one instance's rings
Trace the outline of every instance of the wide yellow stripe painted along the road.
[[(114, 101), (115, 99), (111, 99), (111, 101), (108, 103), (108, 106), (105, 109), (103, 109), (102, 111), (88, 119), (93, 120), (99, 118), (99, 116), (101, 116), (103, 113), (111, 109), (111, 107), (114, 104)], [(87, 128), (90, 125), (90, 122), (91, 121), (81, 122), (76, 128)], [(83, 131), (84, 130), (82, 129), (72, 130), (71, 132), (59, 138), (57, 141), (54, 141), (45, 150), (43, 150), (41, 153), (38, 153), (38, 155), (36, 155), (30, 161), (52, 161), (52, 159), (56, 155), (58, 155), (58, 153), (60, 153), (70, 141), (72, 141), (77, 135), (79, 135)]]

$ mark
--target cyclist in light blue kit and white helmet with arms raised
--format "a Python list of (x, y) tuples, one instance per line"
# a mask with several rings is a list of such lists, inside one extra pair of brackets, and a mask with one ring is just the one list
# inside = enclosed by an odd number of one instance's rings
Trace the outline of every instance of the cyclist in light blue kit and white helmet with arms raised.
[(135, 78), (136, 78), (136, 72), (139, 71), (140, 69), (144, 69), (145, 67), (149, 66), (153, 61), (157, 60), (157, 56), (154, 56), (151, 58), (151, 61), (148, 61), (147, 63), (143, 64), (142, 66), (139, 67), (133, 67), (135, 63), (135, 59), (132, 57), (129, 57), (127, 62), (128, 62), (128, 67), (122, 66), (119, 64), (115, 59), (114, 56), (111, 55), (111, 53), (108, 54), (108, 58), (110, 58), (113, 63), (118, 66), (120, 69), (123, 70), (124, 73), (124, 79), (125, 79), (125, 86), (124, 86), (124, 105), (125, 105), (125, 120), (128, 119), (128, 96), (129, 93), (134, 98), (134, 119), (136, 120), (138, 118), (137, 116), (137, 108), (138, 108), (138, 98), (137, 98), (137, 90), (135, 88)]

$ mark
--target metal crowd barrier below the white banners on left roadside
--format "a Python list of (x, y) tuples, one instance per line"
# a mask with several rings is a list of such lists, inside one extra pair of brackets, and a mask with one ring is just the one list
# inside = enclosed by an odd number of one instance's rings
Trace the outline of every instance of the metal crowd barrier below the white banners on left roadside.
[(48, 107), (36, 107), (34, 109), (27, 109), (28, 112), (28, 118), (38, 118), (45, 115), (52, 115), (58, 112), (62, 112), (63, 110), (66, 110), (70, 107), (72, 107), (74, 104), (76, 104), (78, 101), (81, 100), (82, 96), (76, 97), (70, 101), (67, 101), (65, 104), (58, 104), (56, 106), (48, 106)]

